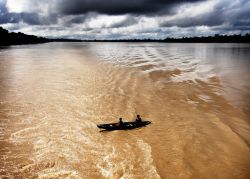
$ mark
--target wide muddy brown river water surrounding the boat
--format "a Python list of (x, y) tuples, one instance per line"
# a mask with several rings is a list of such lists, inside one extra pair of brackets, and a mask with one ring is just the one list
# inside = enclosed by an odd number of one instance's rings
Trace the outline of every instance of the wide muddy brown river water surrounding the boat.
[[(0, 178), (249, 178), (250, 45), (0, 49)], [(96, 124), (152, 121), (129, 131)]]

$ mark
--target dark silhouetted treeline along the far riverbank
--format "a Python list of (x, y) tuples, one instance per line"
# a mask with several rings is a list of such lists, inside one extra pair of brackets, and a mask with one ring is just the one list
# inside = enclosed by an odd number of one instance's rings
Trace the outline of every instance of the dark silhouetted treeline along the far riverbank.
[(165, 43), (250, 43), (250, 34), (219, 35), (208, 37), (183, 37), (166, 39), (122, 39), (122, 40), (75, 40), (75, 39), (48, 39), (21, 32), (14, 33), (0, 27), (0, 46), (36, 44), (46, 42), (165, 42)]

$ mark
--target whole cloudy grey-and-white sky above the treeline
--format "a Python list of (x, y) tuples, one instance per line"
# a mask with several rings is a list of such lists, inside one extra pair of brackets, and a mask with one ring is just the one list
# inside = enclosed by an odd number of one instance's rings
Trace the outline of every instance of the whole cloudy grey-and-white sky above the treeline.
[(249, 0), (0, 0), (0, 26), (50, 38), (250, 33)]

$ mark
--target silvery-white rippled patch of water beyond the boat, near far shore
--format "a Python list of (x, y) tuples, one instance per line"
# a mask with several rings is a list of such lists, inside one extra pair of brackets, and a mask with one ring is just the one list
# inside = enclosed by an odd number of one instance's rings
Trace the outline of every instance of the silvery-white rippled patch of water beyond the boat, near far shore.
[[(171, 77), (171, 80), (175, 82), (183, 82), (187, 80), (195, 81), (196, 79), (208, 81), (209, 78), (216, 75), (212, 65), (207, 62), (204, 63), (204, 57), (197, 58), (191, 56), (189, 51), (183, 51), (183, 55), (180, 55), (179, 51), (175, 51), (175, 46), (166, 48), (165, 46), (159, 47), (157, 44), (154, 48), (154, 45), (140, 47), (131, 44), (125, 50), (122, 44), (111, 44), (111, 46), (112, 48), (108, 48), (105, 47), (105, 45), (98, 44), (91, 46), (91, 50), (97, 52), (98, 58), (103, 59), (105, 62), (118, 66), (123, 65), (138, 68), (140, 71), (142, 70), (147, 73), (159, 70), (166, 72), (176, 69), (181, 70), (181, 74)], [(102, 49), (104, 47), (108, 50), (97, 50), (98, 48)], [(120, 53), (121, 51), (123, 53)], [(127, 55), (128, 53), (129, 56)], [(111, 55), (116, 60), (110, 58)], [(138, 56), (140, 57), (139, 59)]]

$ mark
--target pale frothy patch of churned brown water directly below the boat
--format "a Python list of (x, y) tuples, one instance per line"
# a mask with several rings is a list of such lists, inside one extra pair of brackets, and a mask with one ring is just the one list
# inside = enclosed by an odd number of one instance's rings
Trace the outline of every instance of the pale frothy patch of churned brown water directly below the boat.
[[(151, 148), (143, 140), (139, 139), (130, 144), (119, 143), (117, 148), (114, 144), (106, 148), (103, 157), (96, 165), (104, 177), (160, 178), (153, 164)], [(135, 151), (140, 155), (135, 155)]]

